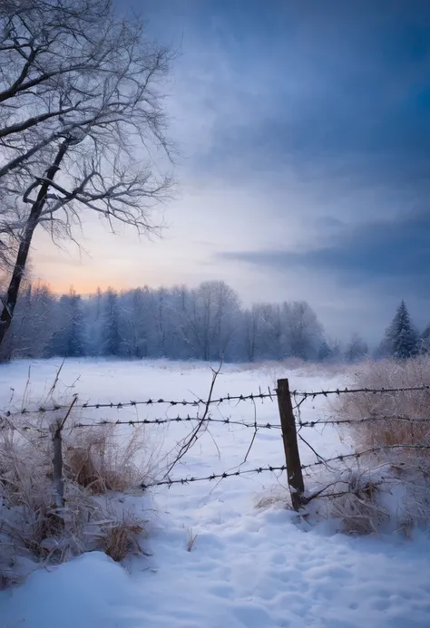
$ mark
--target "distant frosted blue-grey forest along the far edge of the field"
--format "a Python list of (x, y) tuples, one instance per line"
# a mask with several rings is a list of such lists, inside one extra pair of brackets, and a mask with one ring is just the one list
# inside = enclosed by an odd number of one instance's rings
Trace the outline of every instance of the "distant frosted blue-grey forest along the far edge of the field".
[[(429, 337), (430, 327), (423, 334), (415, 332), (402, 303), (378, 353), (409, 357), (424, 350)], [(121, 293), (98, 290), (88, 297), (73, 290), (58, 296), (46, 285), (29, 283), (21, 292), (0, 358), (222, 357), (227, 362), (259, 362), (295, 357), (356, 362), (367, 353), (357, 333), (344, 346), (329, 340), (306, 301), (244, 308), (222, 281), (194, 289), (178, 285)]]

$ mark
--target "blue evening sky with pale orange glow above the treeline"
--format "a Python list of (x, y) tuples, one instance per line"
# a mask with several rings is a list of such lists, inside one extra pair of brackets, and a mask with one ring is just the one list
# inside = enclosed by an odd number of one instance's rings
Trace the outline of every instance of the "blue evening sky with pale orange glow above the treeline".
[(169, 228), (147, 243), (97, 227), (82, 257), (46, 244), (40, 274), (55, 267), (64, 288), (79, 276), (89, 288), (223, 278), (246, 303), (307, 299), (339, 337), (376, 339), (402, 298), (417, 324), (430, 321), (430, 4), (130, 9), (179, 51)]

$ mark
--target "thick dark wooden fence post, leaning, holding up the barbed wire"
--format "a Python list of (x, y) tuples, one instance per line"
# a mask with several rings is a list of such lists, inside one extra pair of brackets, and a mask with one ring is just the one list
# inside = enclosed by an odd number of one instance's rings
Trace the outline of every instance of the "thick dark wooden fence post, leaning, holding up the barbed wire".
[(285, 459), (287, 461), (288, 486), (291, 493), (293, 508), (298, 510), (305, 503), (303, 494), (305, 484), (298, 453), (298, 434), (294, 417), (288, 380), (278, 380), (277, 397), (279, 405), (282, 440), (284, 441)]

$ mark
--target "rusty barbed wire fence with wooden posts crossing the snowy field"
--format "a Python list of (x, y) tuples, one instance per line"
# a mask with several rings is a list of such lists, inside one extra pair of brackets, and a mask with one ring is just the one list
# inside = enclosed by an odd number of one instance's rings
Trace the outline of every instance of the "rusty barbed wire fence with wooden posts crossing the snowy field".
[[(90, 403), (89, 401), (84, 403), (77, 403), (77, 397), (73, 398), (72, 404), (53, 404), (50, 407), (40, 406), (38, 408), (25, 408), (22, 407), (19, 411), (4, 411), (0, 414), (0, 429), (9, 428), (15, 430), (21, 430), (22, 433), (25, 433), (30, 430), (35, 430), (41, 436), (41, 438), (52, 438), (54, 443), (54, 450), (56, 453), (56, 458), (54, 461), (54, 482), (59, 487), (62, 487), (62, 469), (59, 466), (58, 460), (61, 459), (61, 443), (62, 443), (62, 431), (65, 429), (65, 423), (71, 412), (82, 412), (85, 410), (92, 411), (103, 411), (106, 409), (122, 411), (125, 408), (136, 407), (136, 406), (159, 406), (166, 405), (168, 408), (174, 407), (190, 407), (195, 408), (196, 414), (186, 416), (181, 416), (178, 414), (175, 417), (164, 417), (164, 418), (155, 418), (155, 419), (132, 419), (132, 420), (124, 420), (119, 418), (118, 420), (90, 420), (86, 421), (75, 421), (68, 429), (95, 429), (97, 427), (103, 426), (138, 426), (138, 425), (165, 425), (169, 423), (189, 423), (193, 425), (191, 434), (186, 437), (182, 443), (180, 451), (174, 459), (174, 461), (169, 465), (169, 469), (164, 473), (164, 475), (159, 479), (154, 479), (150, 482), (142, 482), (142, 489), (149, 489), (161, 486), (172, 487), (174, 485), (189, 485), (193, 482), (201, 482), (201, 481), (213, 481), (213, 480), (222, 480), (224, 478), (233, 478), (239, 476), (249, 476), (249, 475), (259, 475), (261, 473), (273, 473), (273, 474), (284, 474), (287, 472), (287, 480), (288, 487), (291, 494), (292, 505), (296, 510), (299, 510), (301, 507), (305, 506), (312, 498), (324, 496), (324, 488), (322, 490), (318, 490), (313, 494), (306, 490), (304, 475), (310, 469), (318, 469), (324, 467), (328, 470), (337, 470), (336, 465), (344, 463), (346, 461), (358, 461), (361, 459), (367, 459), (369, 456), (374, 455), (378, 456), (382, 452), (387, 449), (390, 450), (422, 450), (428, 451), (430, 450), (430, 444), (393, 444), (389, 446), (382, 447), (373, 447), (370, 449), (365, 449), (363, 451), (355, 451), (347, 454), (340, 454), (332, 458), (325, 458), (318, 453), (318, 450), (311, 445), (308, 440), (306, 440), (301, 433), (301, 430), (304, 428), (308, 429), (320, 429), (324, 428), (326, 425), (331, 426), (345, 426), (345, 425), (359, 425), (363, 423), (373, 423), (376, 424), (379, 421), (386, 421), (390, 423), (391, 421), (401, 421), (406, 424), (415, 425), (418, 423), (430, 423), (430, 418), (426, 417), (417, 417), (411, 418), (406, 416), (397, 416), (393, 414), (386, 415), (372, 415), (367, 417), (362, 417), (359, 419), (333, 419), (333, 418), (322, 418), (318, 420), (302, 420), (301, 419), (301, 409), (303, 404), (309, 400), (315, 400), (318, 397), (340, 397), (342, 395), (354, 395), (354, 394), (365, 394), (365, 395), (394, 395), (397, 393), (406, 393), (406, 392), (425, 392), (429, 395), (430, 401), (430, 385), (423, 384), (421, 386), (414, 387), (405, 387), (405, 388), (342, 388), (342, 389), (334, 389), (334, 390), (321, 390), (321, 391), (297, 391), (291, 390), (289, 386), (288, 379), (281, 379), (278, 381), (278, 385), (276, 389), (268, 388), (267, 391), (250, 393), (250, 394), (227, 394), (220, 398), (212, 398), (212, 392), (214, 383), (216, 381), (217, 375), (219, 371), (214, 371), (212, 384), (210, 387), (210, 393), (207, 400), (196, 399), (196, 400), (182, 400), (182, 401), (169, 401), (167, 399), (147, 399), (145, 401), (120, 401), (120, 402), (105, 402), (105, 403)], [(265, 401), (277, 401), (278, 402), (278, 410), (279, 410), (279, 422), (269, 421), (269, 422), (259, 422), (257, 420), (257, 402), (264, 403)], [(215, 406), (221, 406), (225, 404), (235, 404), (239, 405), (240, 403), (251, 403), (253, 405), (254, 411), (254, 420), (232, 420), (231, 418), (214, 418), (210, 415), (210, 408)], [(430, 405), (430, 404), (429, 404)], [(199, 414), (200, 408), (203, 409), (202, 414)], [(62, 412), (65, 412), (65, 417), (59, 415)], [(15, 419), (17, 417), (25, 418), (27, 416), (31, 416), (34, 418), (34, 415), (39, 417), (44, 417), (49, 413), (55, 413), (54, 420), (47, 426), (35, 426), (32, 423), (26, 423), (17, 425), (15, 423)], [(210, 473), (204, 477), (185, 477), (185, 478), (171, 478), (171, 471), (175, 468), (177, 462), (183, 457), (183, 455), (188, 452), (189, 449), (195, 444), (196, 440), (200, 437), (201, 430), (203, 430), (206, 426), (210, 424), (220, 424), (226, 426), (236, 426), (241, 428), (246, 428), (249, 430), (254, 430), (252, 439), (249, 444), (249, 449), (246, 453), (244, 461), (248, 460), (249, 452), (252, 449), (254, 440), (259, 430), (276, 430), (279, 433), (279, 436), (282, 439), (283, 450), (285, 456), (285, 464), (281, 465), (264, 465), (255, 467), (254, 469), (236, 469), (231, 470), (227, 469), (220, 473)], [(310, 462), (308, 464), (302, 464), (300, 459), (300, 450), (299, 443), (302, 447), (307, 447), (311, 450), (312, 454), (315, 456), (315, 461)], [(63, 490), (63, 489), (61, 489)], [(333, 493), (331, 494), (333, 495)], [(63, 493), (62, 496), (63, 498)]]

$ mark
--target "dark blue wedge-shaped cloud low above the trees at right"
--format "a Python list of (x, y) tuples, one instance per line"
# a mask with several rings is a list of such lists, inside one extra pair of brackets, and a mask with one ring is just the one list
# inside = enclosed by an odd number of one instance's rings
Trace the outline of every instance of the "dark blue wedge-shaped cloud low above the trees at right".
[[(328, 223), (330, 224), (330, 220)], [(336, 223), (335, 223), (336, 227)], [(337, 277), (340, 285), (377, 288), (380, 296), (430, 299), (430, 210), (356, 227), (337, 225), (320, 246), (221, 253), (220, 258)], [(381, 294), (382, 293), (382, 294)]]

